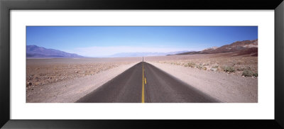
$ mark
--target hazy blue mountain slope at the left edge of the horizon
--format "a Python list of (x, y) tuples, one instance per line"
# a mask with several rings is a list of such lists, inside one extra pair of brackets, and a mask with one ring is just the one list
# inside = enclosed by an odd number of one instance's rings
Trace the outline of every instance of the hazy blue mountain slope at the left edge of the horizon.
[(26, 46), (26, 57), (83, 57), (74, 53), (67, 53), (60, 50), (47, 49), (36, 45)]

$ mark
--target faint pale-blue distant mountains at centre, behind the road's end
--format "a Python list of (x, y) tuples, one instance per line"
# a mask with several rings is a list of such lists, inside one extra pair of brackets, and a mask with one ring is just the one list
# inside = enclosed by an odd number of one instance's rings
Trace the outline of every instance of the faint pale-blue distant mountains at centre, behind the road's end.
[(177, 52), (121, 52), (109, 57), (149, 57), (149, 56), (163, 56), (163, 55), (176, 55), (178, 53), (188, 51), (177, 51)]

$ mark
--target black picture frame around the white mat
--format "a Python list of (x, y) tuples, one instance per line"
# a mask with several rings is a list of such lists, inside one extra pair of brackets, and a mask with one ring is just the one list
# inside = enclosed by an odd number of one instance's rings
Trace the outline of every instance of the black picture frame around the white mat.
[[(274, 120), (11, 120), (10, 10), (22, 9), (271, 9), (275, 11)], [(0, 127), (3, 128), (284, 128), (283, 0), (0, 0)]]

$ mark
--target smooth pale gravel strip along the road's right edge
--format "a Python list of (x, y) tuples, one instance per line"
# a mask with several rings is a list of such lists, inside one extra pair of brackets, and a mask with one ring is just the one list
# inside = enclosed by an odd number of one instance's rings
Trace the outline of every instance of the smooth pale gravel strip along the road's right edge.
[(148, 62), (221, 102), (257, 103), (258, 79), (180, 65)]

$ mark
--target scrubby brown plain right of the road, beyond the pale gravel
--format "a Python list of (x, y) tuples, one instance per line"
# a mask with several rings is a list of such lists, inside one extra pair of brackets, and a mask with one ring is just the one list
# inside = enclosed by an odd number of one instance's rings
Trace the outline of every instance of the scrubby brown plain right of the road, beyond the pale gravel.
[(173, 64), (183, 67), (192, 67), (202, 70), (213, 70), (227, 72), (224, 69), (231, 69), (237, 74), (243, 76), (243, 72), (250, 72), (258, 76), (258, 57), (249, 55), (236, 55), (236, 53), (218, 53), (218, 54), (200, 54), (200, 55), (170, 55), (159, 57), (145, 57), (147, 62), (159, 62), (163, 64)]

